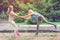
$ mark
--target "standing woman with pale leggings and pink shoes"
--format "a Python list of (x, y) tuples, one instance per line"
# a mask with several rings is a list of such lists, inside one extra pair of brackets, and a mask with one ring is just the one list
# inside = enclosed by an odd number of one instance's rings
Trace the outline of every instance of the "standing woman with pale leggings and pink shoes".
[(13, 11), (13, 5), (10, 5), (8, 7), (8, 10), (7, 10), (7, 14), (9, 15), (9, 18), (8, 18), (8, 21), (10, 24), (12, 24), (12, 26), (14, 27), (14, 35), (13, 37), (19, 37), (20, 34), (18, 33), (18, 26), (16, 25), (16, 23), (14, 22), (14, 17), (19, 17), (17, 14), (14, 13)]

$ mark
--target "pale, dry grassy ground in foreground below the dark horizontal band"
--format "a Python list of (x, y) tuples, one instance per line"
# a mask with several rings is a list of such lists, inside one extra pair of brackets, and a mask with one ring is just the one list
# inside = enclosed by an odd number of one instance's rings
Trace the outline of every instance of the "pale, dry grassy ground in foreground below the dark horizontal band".
[(18, 38), (12, 37), (13, 33), (0, 33), (0, 40), (60, 40), (60, 33), (20, 33)]

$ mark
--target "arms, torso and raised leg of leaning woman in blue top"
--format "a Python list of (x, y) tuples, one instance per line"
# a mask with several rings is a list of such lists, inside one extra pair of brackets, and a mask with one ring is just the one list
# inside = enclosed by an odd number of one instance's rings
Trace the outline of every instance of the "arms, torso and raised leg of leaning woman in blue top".
[(48, 22), (43, 15), (41, 15), (41, 14), (39, 14), (37, 12), (34, 12), (31, 9), (28, 10), (28, 15), (26, 15), (26, 16), (20, 16), (20, 18), (29, 19), (29, 20), (30, 19), (33, 19), (33, 20), (36, 20), (38, 22), (44, 20), (46, 23), (51, 24), (51, 25), (54, 25), (54, 27), (56, 28), (56, 25), (55, 24), (53, 24), (51, 22)]

